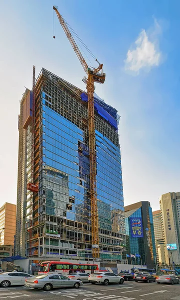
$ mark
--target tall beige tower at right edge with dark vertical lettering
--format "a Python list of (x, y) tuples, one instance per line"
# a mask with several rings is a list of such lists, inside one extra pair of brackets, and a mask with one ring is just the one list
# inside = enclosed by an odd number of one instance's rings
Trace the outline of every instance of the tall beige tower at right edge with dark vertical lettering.
[(180, 263), (180, 192), (168, 192), (160, 198), (165, 261)]

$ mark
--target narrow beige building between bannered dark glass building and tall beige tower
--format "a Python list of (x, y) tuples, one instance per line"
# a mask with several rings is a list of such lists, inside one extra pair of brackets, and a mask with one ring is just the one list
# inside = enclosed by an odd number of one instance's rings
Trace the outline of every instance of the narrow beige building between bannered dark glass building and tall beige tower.
[(161, 216), (160, 209), (153, 211), (153, 224), (154, 224), (154, 232), (155, 232), (157, 261), (162, 263), (165, 262), (165, 249), (164, 249), (164, 238), (163, 238), (163, 228), (162, 228), (162, 216)]

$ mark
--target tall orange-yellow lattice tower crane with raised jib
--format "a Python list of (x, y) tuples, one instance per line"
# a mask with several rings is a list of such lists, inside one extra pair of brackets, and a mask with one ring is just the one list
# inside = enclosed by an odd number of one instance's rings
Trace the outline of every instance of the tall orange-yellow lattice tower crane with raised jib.
[[(91, 231), (92, 231), (92, 252), (93, 258), (99, 257), (99, 232), (98, 232), (98, 210), (97, 210), (97, 191), (96, 191), (96, 138), (94, 120), (94, 82), (104, 83), (106, 74), (103, 73), (103, 64), (99, 63), (97, 68), (89, 67), (85, 61), (79, 47), (77, 46), (69, 28), (58, 11), (57, 6), (53, 6), (59, 22), (66, 33), (82, 67), (88, 75), (86, 81), (88, 95), (88, 139), (89, 139), (89, 162), (90, 162), (90, 199), (91, 199)], [(53, 36), (55, 38), (55, 35)]]

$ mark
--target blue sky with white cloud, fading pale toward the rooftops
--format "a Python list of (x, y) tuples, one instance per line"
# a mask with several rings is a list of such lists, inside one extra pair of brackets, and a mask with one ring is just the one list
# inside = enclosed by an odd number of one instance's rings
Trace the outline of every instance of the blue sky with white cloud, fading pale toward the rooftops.
[(180, 2), (1, 0), (0, 204), (16, 202), (19, 100), (32, 65), (84, 89), (84, 70), (52, 5), (104, 63), (96, 93), (118, 109), (125, 205), (180, 191)]

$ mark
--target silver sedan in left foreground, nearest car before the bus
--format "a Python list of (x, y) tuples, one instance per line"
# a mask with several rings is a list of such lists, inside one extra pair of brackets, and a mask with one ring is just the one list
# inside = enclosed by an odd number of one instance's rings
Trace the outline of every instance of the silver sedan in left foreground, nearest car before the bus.
[(79, 288), (82, 286), (82, 281), (69, 279), (64, 275), (51, 274), (51, 275), (38, 275), (34, 278), (25, 280), (26, 287), (42, 288), (44, 290), (51, 290), (54, 287), (74, 287)]

